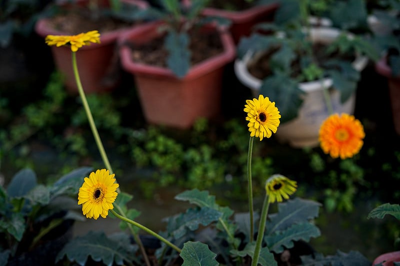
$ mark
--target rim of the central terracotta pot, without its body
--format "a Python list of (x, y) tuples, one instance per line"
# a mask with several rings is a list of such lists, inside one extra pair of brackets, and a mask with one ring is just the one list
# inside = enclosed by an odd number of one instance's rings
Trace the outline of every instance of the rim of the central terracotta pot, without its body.
[[(131, 49), (126, 45), (123, 45), (127, 40), (134, 38), (135, 35), (141, 34), (142, 32), (148, 32), (153, 30), (154, 27), (163, 24), (161, 21), (148, 22), (143, 25), (139, 25), (132, 30), (123, 32), (118, 38), (118, 45), (120, 46), (119, 54), (121, 58), (121, 64), (125, 70), (130, 71), (134, 74), (147, 74), (156, 75), (159, 77), (168, 77), (178, 79), (173, 72), (165, 67), (146, 65), (142, 63), (135, 63), (131, 59)], [(193, 65), (187, 74), (180, 80), (194, 79), (204, 73), (211, 72), (215, 68), (221, 67), (226, 63), (232, 61), (236, 55), (235, 45), (233, 39), (226, 28), (219, 28), (221, 32), (221, 41), (224, 47), (224, 51), (220, 55), (208, 58), (200, 63)]]

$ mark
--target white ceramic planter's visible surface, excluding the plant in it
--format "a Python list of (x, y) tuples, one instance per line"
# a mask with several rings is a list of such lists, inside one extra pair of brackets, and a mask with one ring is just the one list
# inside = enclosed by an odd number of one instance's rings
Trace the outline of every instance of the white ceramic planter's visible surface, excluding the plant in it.
[[(339, 34), (340, 31), (335, 28), (320, 27), (310, 29), (310, 37), (314, 42), (329, 43)], [(234, 62), (234, 71), (240, 82), (250, 88), (253, 96), (256, 98), (258, 97), (262, 81), (248, 72), (247, 64), (251, 57), (251, 52), (248, 52), (242, 60), (236, 59)], [(356, 70), (361, 71), (367, 62), (368, 58), (357, 56), (352, 65)], [(315, 147), (318, 145), (319, 126), (329, 115), (322, 89), (324, 87), (331, 88), (332, 80), (325, 78), (323, 80), (304, 82), (300, 83), (299, 87), (305, 92), (305, 96), (303, 104), (299, 109), (298, 117), (279, 125), (275, 137), (280, 142), (288, 143), (296, 148)], [(329, 93), (334, 112), (354, 113), (355, 92), (344, 103), (340, 103), (339, 91), (330, 89)], [(273, 99), (270, 100), (273, 101)]]

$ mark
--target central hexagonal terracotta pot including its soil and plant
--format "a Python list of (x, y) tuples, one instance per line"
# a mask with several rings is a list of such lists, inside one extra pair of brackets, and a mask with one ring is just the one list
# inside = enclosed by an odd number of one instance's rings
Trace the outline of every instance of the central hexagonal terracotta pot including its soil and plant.
[[(198, 118), (219, 117), (223, 67), (234, 59), (235, 49), (224, 27), (172, 2), (163, 12), (174, 14), (173, 21), (160, 12), (157, 22), (125, 32), (119, 55), (134, 77), (146, 121), (185, 129)], [(156, 54), (153, 62), (145, 61)]]

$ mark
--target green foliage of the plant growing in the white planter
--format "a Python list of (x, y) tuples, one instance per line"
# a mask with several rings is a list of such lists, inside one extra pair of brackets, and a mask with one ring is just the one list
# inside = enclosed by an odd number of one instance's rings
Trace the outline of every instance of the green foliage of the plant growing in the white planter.
[[(363, 4), (360, 0), (351, 2), (357, 2), (357, 6)], [(332, 43), (319, 43), (315, 49), (315, 42), (309, 36), (314, 27), (308, 22), (308, 16), (315, 9), (317, 13), (336, 12), (335, 1), (281, 0), (273, 21), (258, 24), (237, 45), (238, 57), (249, 60), (248, 64), (257, 58), (267, 58), (268, 73), (260, 78), (259, 93), (275, 102), (282, 116), (281, 123), (298, 115), (304, 94), (300, 83), (330, 77), (332, 88), (340, 91), (340, 100), (345, 102), (360, 79), (352, 66), (355, 56), (378, 59), (377, 50), (366, 37), (345, 31), (350, 25), (338, 27), (341, 34)], [(267, 29), (272, 34), (261, 34), (259, 29)]]

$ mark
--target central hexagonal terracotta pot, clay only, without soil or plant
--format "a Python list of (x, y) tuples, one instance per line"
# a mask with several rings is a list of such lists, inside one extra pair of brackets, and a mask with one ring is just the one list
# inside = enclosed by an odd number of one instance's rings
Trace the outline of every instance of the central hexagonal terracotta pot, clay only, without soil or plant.
[(201, 61), (177, 78), (170, 69), (132, 60), (127, 42), (145, 43), (159, 36), (160, 23), (148, 23), (125, 32), (119, 38), (122, 68), (133, 75), (147, 122), (188, 128), (200, 117), (213, 119), (220, 114), (223, 67), (235, 56), (229, 32), (220, 31), (223, 52)]

